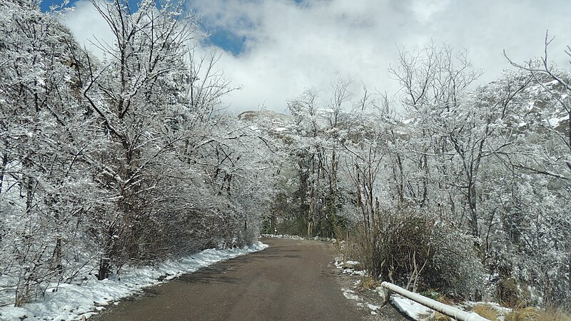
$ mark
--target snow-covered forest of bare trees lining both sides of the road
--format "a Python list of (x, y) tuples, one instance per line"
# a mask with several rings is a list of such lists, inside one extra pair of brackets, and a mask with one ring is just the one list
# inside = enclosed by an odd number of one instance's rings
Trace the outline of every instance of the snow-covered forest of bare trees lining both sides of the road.
[(571, 307), (571, 75), (547, 34), (483, 86), (434, 42), (391, 63), (396, 98), (342, 77), (236, 116), (198, 14), (93, 4), (103, 57), (57, 11), (0, 3), (0, 305), (287, 233), (415, 292)]

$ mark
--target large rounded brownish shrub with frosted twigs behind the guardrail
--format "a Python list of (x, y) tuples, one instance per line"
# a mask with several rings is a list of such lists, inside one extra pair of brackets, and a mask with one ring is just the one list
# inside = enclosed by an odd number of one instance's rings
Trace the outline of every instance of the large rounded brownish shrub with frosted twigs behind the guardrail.
[(484, 268), (472, 238), (416, 212), (381, 216), (360, 232), (360, 260), (370, 275), (414, 291), (438, 289), (459, 297), (480, 292)]

